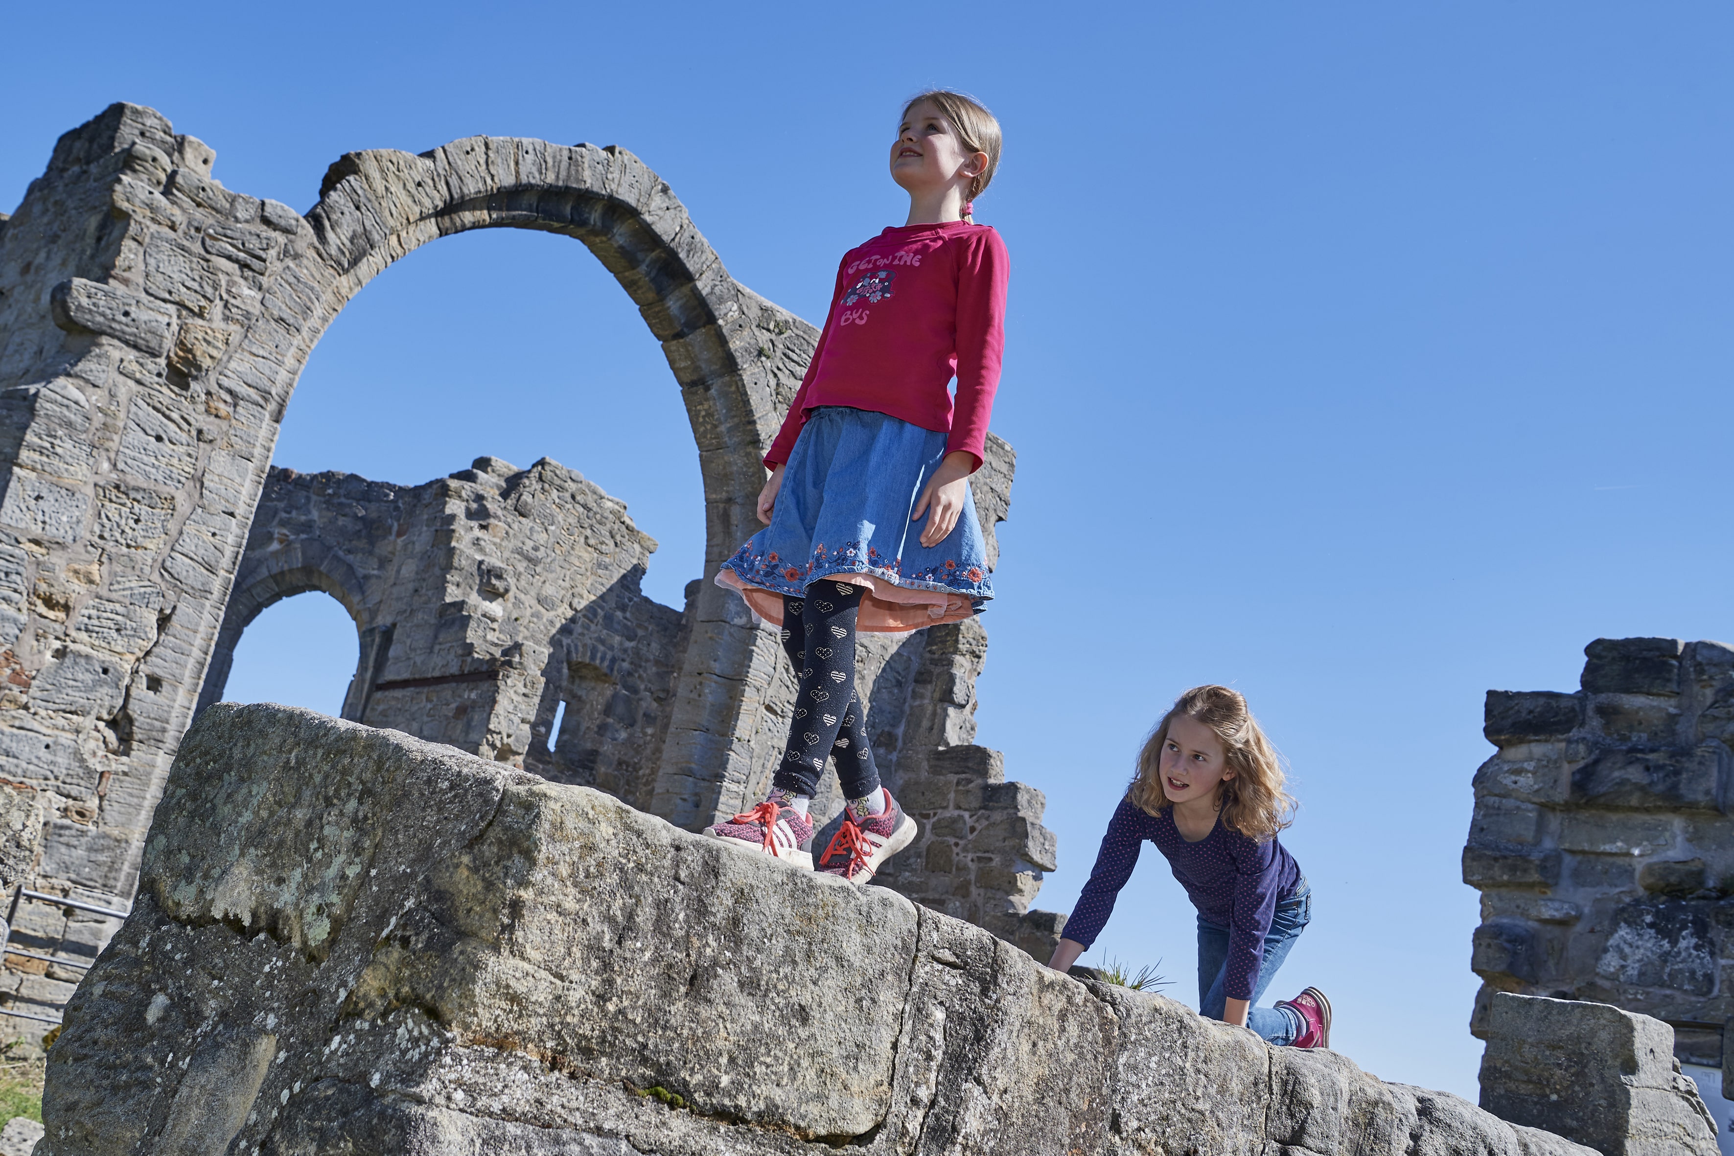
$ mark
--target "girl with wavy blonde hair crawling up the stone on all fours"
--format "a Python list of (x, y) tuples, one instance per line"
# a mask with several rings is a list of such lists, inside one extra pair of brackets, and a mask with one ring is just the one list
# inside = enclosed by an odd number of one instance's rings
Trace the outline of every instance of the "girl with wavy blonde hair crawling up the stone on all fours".
[(1292, 808), (1247, 700), (1228, 686), (1188, 690), (1139, 752), (1047, 965), (1066, 971), (1096, 941), (1148, 839), (1198, 908), (1198, 1010), (1269, 1043), (1330, 1047), (1318, 988), (1255, 1007), (1313, 915), (1313, 889), (1276, 839)]

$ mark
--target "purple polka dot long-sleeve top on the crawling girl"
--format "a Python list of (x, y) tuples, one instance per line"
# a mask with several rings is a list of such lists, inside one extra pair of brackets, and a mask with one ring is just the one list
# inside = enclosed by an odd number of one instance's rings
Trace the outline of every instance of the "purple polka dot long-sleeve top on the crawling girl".
[(1255, 842), (1233, 827), (1224, 827), (1221, 818), (1209, 835), (1186, 842), (1174, 825), (1172, 809), (1146, 815), (1131, 799), (1122, 799), (1108, 820), (1108, 834), (1101, 837), (1101, 851), (1096, 853), (1096, 867), (1084, 884), (1084, 894), (1061, 934), (1085, 948), (1096, 943), (1113, 913), (1115, 896), (1138, 867), (1138, 853), (1146, 839), (1167, 856), (1174, 879), (1186, 887), (1186, 898), (1198, 908), (1198, 917), (1228, 929), (1228, 977), (1222, 991), (1231, 1000), (1250, 1000), (1259, 986), (1264, 936), (1271, 931), (1276, 903), (1294, 894), (1300, 867), (1276, 839)]

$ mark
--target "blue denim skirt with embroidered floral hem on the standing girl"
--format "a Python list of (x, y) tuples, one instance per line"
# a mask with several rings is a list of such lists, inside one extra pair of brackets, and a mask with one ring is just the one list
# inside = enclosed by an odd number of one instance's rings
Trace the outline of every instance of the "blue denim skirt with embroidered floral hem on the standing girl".
[(928, 516), (910, 518), (945, 459), (947, 435), (890, 414), (824, 406), (789, 452), (768, 527), (716, 574), (753, 612), (782, 626), (782, 596), (850, 575), (867, 588), (858, 631), (900, 633), (980, 614), (994, 596), (975, 494), (964, 487), (957, 525), (921, 544)]

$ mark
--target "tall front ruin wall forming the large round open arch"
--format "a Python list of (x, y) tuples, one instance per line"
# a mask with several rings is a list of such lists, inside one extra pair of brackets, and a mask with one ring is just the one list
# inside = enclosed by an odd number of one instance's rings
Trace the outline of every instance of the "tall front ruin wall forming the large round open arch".
[[(99, 896), (132, 891), (295, 378), (380, 269), (477, 227), (584, 241), (681, 383), (713, 562), (751, 529), (761, 447), (813, 343), (621, 149), (349, 154), (305, 218), (210, 170), (160, 114), (114, 106), (61, 140), (0, 232), (0, 754), (57, 799), (99, 801), (94, 822), (52, 820), (43, 851), (50, 877)], [(655, 794), (695, 823), (777, 742), (777, 646), (711, 589), (688, 640)]]

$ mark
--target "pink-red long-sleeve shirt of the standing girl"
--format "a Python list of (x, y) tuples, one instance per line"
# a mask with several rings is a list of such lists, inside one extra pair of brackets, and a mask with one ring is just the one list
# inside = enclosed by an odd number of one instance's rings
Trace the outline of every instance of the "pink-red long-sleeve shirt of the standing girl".
[(1006, 345), (1007, 265), (999, 232), (961, 220), (895, 225), (844, 253), (818, 348), (765, 464), (789, 461), (810, 411), (850, 406), (948, 433), (945, 452), (973, 454), (980, 468)]

